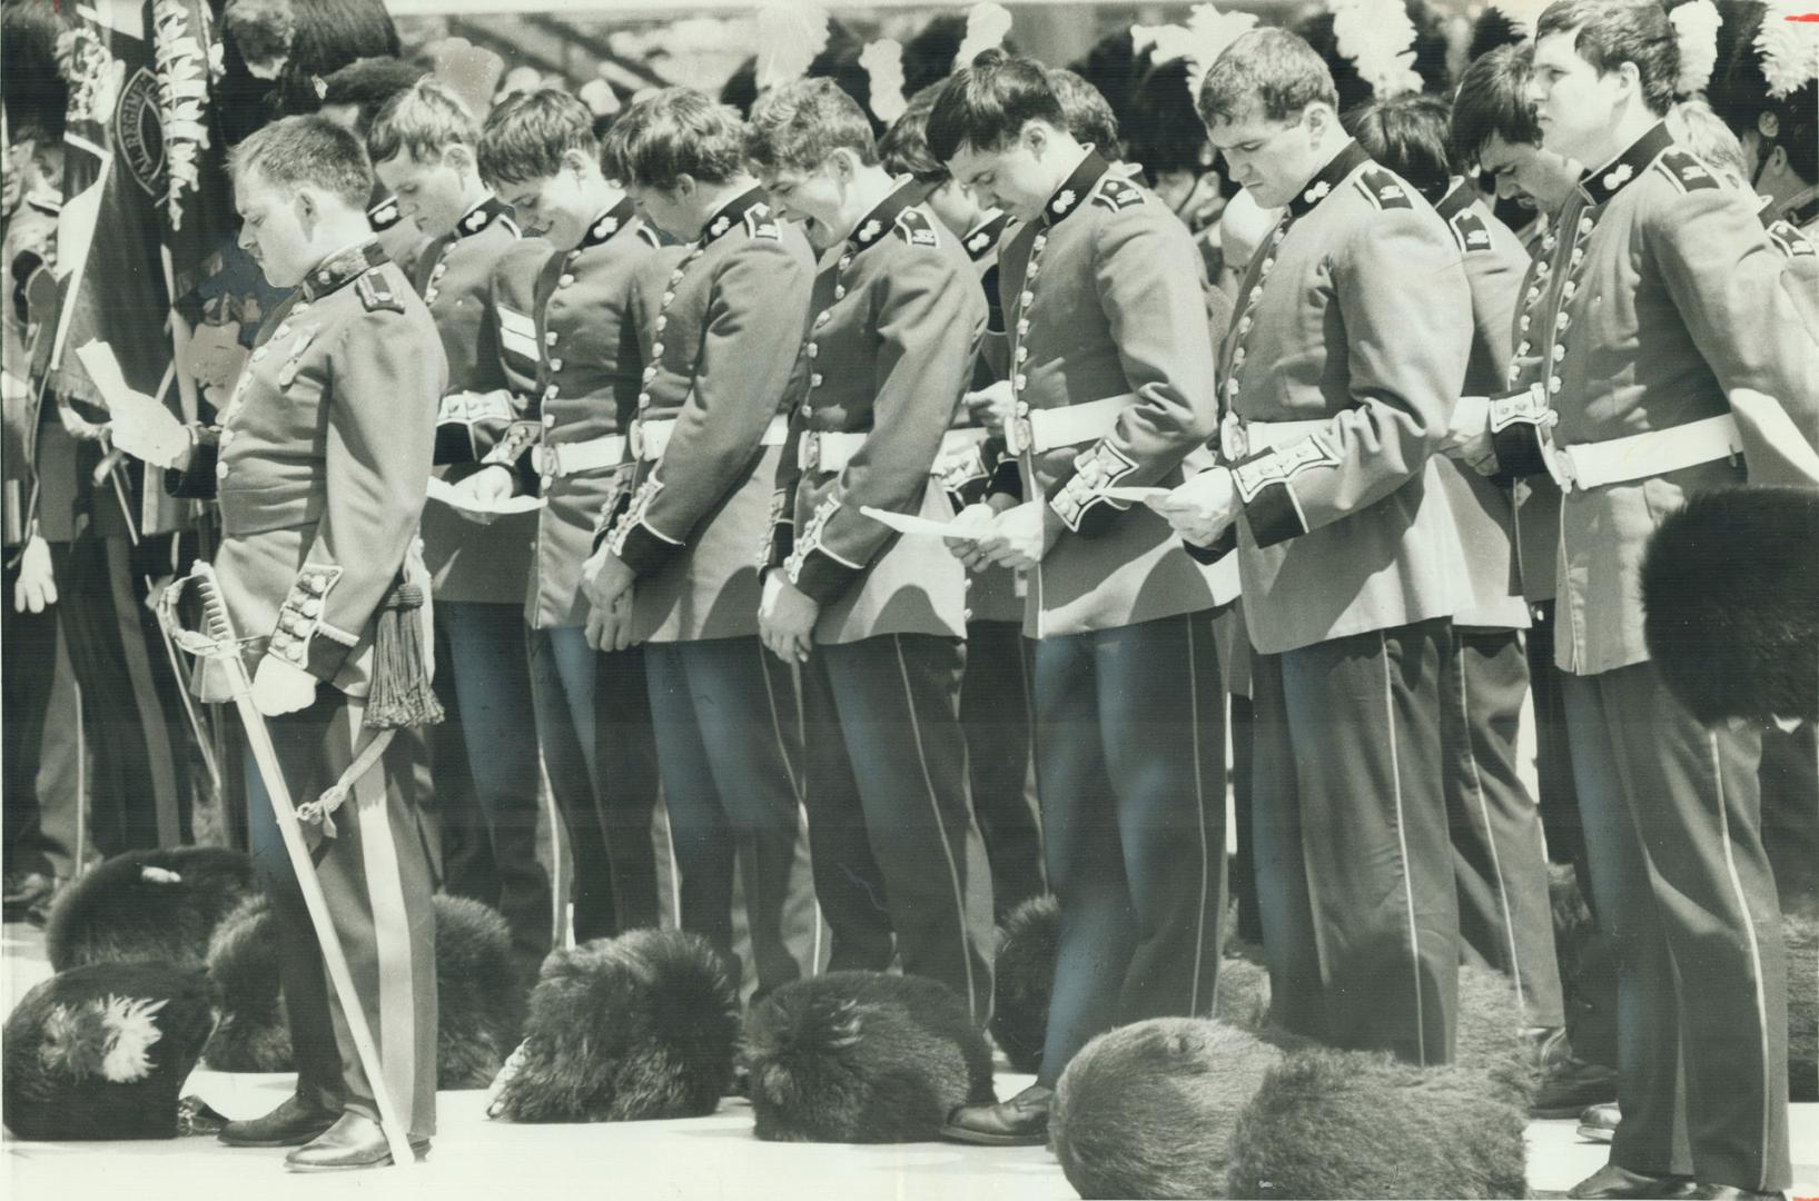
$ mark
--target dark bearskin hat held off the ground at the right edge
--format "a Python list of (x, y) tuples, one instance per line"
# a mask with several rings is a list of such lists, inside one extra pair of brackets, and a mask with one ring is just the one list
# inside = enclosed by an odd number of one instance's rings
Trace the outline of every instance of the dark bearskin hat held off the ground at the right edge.
[(1819, 491), (1701, 492), (1643, 563), (1648, 654), (1699, 720), (1819, 721)]

